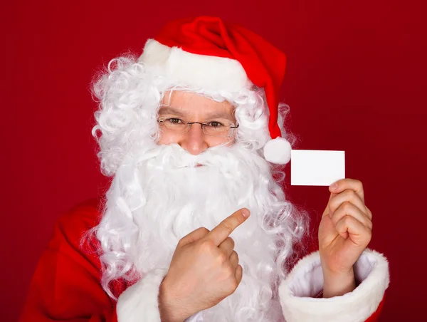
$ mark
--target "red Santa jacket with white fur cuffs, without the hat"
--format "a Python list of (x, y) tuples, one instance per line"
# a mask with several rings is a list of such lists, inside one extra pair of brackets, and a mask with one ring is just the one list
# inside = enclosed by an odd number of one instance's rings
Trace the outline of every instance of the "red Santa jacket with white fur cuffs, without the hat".
[[(117, 281), (112, 300), (100, 284), (97, 245), (81, 244), (84, 234), (100, 220), (97, 199), (61, 217), (43, 252), (19, 321), (133, 322), (160, 321), (157, 297), (166, 271), (155, 270), (134, 285)], [(280, 285), (287, 322), (377, 321), (389, 284), (388, 264), (376, 251), (364, 251), (354, 265), (359, 286), (334, 298), (315, 298), (322, 291), (317, 252), (301, 259)], [(187, 321), (203, 321), (196, 314)]]

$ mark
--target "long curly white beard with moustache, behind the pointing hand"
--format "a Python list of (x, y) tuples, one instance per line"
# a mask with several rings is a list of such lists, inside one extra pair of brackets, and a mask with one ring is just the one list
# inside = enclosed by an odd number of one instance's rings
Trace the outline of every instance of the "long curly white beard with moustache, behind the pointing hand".
[[(153, 269), (168, 269), (179, 239), (199, 227), (211, 230), (246, 207), (251, 216), (231, 234), (243, 279), (231, 296), (203, 312), (204, 321), (278, 321), (276, 291), (285, 269), (276, 258), (283, 243), (292, 241), (292, 205), (278, 189), (268, 162), (238, 145), (197, 156), (179, 145), (156, 145), (129, 156), (97, 227), (105, 274), (117, 278), (117, 270), (126, 273), (132, 266), (143, 278)], [(280, 264), (288, 255), (280, 254)]]

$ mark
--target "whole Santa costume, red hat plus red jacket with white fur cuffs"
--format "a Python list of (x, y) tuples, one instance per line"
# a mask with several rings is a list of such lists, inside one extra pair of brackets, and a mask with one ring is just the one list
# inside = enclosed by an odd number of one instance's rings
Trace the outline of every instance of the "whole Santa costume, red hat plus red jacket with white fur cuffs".
[[(285, 56), (278, 48), (240, 26), (200, 17), (167, 25), (156, 39), (147, 41), (139, 61), (190, 87), (219, 93), (253, 85), (263, 88), (273, 139), (264, 147), (265, 160), (288, 162), (290, 145), (278, 126), (278, 91), (285, 74)], [(102, 289), (98, 247), (80, 245), (83, 234), (100, 221), (99, 209), (97, 201), (89, 202), (59, 220), (33, 276), (22, 322), (160, 321), (157, 298), (167, 271), (150, 271), (133, 285), (115, 281), (117, 302)], [(354, 291), (316, 298), (323, 284), (320, 256), (315, 252), (301, 259), (278, 289), (286, 321), (376, 321), (389, 285), (387, 261), (376, 251), (366, 250), (354, 272), (359, 281)], [(188, 321), (203, 318), (196, 313)]]

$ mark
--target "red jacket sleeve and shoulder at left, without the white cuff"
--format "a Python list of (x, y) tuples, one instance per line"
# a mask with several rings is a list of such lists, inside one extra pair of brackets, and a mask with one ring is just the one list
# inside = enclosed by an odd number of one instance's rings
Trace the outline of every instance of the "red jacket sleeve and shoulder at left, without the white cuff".
[(115, 301), (100, 285), (100, 261), (80, 241), (99, 218), (97, 201), (60, 218), (41, 255), (19, 321), (116, 322)]

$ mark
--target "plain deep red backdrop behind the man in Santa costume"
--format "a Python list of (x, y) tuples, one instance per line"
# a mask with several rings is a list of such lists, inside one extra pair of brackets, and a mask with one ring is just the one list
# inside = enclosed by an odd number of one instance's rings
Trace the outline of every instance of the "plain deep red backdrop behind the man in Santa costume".
[[(282, 98), (298, 148), (345, 150), (347, 177), (364, 182), (371, 247), (391, 265), (381, 321), (423, 320), (426, 10), (391, 2), (10, 3), (1, 19), (1, 321), (16, 320), (56, 219), (107, 187), (90, 136), (93, 74), (128, 49), (139, 53), (170, 19), (199, 14), (243, 24), (287, 53)], [(287, 189), (315, 231), (327, 188)]]

